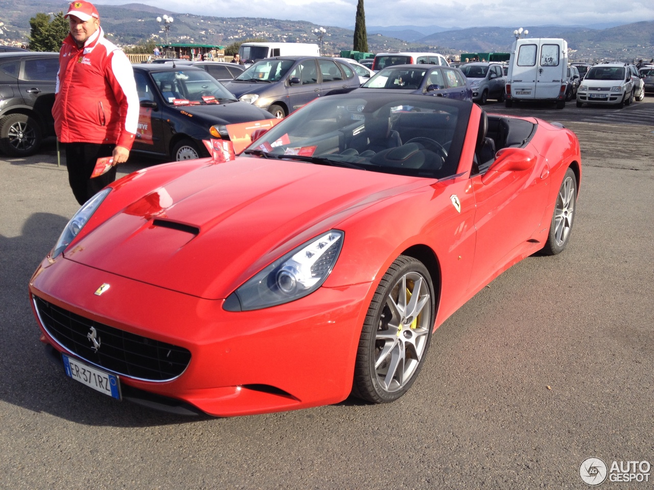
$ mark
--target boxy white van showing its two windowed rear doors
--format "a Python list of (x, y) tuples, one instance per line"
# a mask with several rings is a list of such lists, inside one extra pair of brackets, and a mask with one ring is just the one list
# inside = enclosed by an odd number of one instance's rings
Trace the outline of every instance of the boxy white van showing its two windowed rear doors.
[(568, 42), (564, 39), (516, 39), (506, 76), (507, 107), (514, 101), (556, 101), (566, 105)]

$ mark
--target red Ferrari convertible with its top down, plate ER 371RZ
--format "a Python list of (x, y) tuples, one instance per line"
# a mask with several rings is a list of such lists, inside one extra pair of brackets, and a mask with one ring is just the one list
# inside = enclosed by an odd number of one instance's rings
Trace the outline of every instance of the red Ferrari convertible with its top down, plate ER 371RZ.
[(581, 157), (561, 125), (349, 93), (257, 136), (130, 174), (69, 221), (29, 284), (67, 376), (214, 416), (390, 402), (457, 308), (570, 238)]

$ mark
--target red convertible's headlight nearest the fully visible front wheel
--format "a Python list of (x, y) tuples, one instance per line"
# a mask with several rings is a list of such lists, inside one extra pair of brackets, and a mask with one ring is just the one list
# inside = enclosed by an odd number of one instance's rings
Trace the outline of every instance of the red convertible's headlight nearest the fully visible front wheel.
[(286, 253), (234, 291), (223, 307), (230, 312), (259, 310), (313, 293), (334, 268), (343, 232), (331, 230)]

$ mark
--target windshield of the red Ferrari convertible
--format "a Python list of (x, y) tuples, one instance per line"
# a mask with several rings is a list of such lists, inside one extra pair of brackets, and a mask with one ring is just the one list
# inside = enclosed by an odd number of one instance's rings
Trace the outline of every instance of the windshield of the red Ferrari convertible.
[(444, 178), (456, 173), (470, 110), (424, 95), (330, 95), (279, 122), (245, 154)]

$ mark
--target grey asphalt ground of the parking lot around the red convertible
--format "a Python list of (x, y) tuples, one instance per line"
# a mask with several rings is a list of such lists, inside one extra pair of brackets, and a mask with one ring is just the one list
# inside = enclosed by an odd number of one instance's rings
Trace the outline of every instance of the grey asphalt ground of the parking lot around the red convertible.
[(178, 417), (68, 380), (44, 355), (27, 282), (78, 206), (53, 144), (0, 155), (0, 488), (581, 489), (588, 457), (654, 465), (654, 97), (485, 108), (577, 133), (570, 244), (478, 293), (436, 331), (409, 393), (377, 406)]

